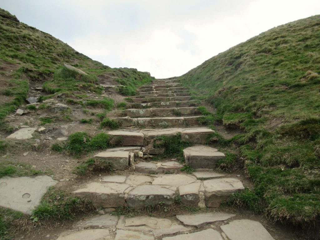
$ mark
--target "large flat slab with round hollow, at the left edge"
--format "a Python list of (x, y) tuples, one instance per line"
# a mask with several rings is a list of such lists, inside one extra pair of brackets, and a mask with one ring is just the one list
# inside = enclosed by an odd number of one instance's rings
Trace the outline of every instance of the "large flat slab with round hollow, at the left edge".
[(49, 176), (1, 178), (0, 206), (31, 214), (47, 189), (56, 183)]

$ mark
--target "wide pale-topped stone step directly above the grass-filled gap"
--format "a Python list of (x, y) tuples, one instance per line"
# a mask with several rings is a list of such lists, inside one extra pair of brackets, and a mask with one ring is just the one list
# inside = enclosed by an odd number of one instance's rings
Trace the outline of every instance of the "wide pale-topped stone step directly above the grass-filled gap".
[(167, 128), (167, 129), (143, 129), (143, 130), (115, 130), (109, 131), (111, 136), (119, 137), (122, 146), (148, 145), (157, 136), (173, 136), (181, 133), (181, 139), (190, 143), (204, 144), (208, 136), (214, 131), (210, 128)]

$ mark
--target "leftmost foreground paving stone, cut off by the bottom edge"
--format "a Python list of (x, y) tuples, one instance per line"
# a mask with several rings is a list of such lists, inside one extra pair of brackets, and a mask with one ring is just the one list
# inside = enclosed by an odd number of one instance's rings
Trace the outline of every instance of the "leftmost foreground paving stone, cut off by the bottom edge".
[(90, 229), (79, 232), (66, 231), (60, 234), (57, 240), (108, 240), (111, 239), (109, 230), (107, 229)]

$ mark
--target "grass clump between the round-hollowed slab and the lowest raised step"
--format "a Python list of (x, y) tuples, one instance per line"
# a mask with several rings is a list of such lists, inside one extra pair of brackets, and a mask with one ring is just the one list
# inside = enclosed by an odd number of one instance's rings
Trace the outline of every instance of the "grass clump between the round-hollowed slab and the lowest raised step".
[(90, 200), (50, 187), (40, 204), (32, 211), (32, 218), (34, 220), (72, 220), (76, 214), (92, 210), (95, 210), (95, 207)]

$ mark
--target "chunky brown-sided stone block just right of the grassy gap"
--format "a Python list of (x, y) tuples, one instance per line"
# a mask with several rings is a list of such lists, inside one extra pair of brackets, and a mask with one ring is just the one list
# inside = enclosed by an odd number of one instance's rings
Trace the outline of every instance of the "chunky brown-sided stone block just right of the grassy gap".
[(199, 145), (183, 149), (183, 157), (186, 165), (192, 168), (215, 168), (216, 162), (225, 155), (216, 148)]

